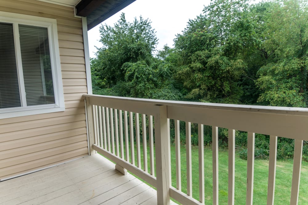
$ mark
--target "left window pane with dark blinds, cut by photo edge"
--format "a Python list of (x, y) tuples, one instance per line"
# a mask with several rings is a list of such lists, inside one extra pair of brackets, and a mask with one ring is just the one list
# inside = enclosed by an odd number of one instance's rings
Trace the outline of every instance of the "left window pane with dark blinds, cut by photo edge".
[(20, 106), (13, 25), (0, 23), (0, 108)]

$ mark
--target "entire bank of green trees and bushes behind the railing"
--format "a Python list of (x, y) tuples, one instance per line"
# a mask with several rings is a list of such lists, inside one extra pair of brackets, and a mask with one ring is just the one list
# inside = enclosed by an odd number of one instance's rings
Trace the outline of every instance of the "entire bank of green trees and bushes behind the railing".
[[(121, 14), (114, 26), (100, 27), (103, 47), (91, 59), (93, 93), (307, 107), (307, 19), (305, 0), (252, 4), (213, 0), (176, 35), (174, 48), (165, 45), (156, 52), (158, 39), (151, 21), (140, 16), (128, 22)], [(171, 133), (174, 136), (174, 127)], [(197, 133), (197, 125), (192, 124), (193, 145), (198, 144)], [(185, 124), (180, 122), (183, 144), (185, 135)], [(205, 145), (211, 144), (211, 135), (211, 126), (206, 125)], [(245, 159), (246, 132), (236, 131), (236, 145)], [(256, 134), (255, 145), (255, 157), (267, 159), (269, 136)], [(219, 128), (219, 146), (228, 148), (226, 128)], [(306, 146), (304, 160), (308, 159)], [(293, 149), (292, 140), (279, 138), (278, 159), (292, 158)]]

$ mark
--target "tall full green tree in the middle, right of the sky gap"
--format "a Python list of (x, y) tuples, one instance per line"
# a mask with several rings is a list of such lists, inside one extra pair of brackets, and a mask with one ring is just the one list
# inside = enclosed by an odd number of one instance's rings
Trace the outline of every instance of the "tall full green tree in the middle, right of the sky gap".
[(242, 1), (213, 1), (177, 35), (177, 79), (187, 89), (187, 99), (240, 103), (239, 80), (246, 65), (238, 57), (242, 43), (231, 31), (246, 7)]

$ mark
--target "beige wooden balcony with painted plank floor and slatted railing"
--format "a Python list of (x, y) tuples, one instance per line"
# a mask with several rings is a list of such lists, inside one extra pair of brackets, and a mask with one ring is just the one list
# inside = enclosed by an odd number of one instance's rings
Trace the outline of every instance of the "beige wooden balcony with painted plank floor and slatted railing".
[[(291, 195), (286, 197), (290, 204), (298, 203), (302, 144), (308, 140), (308, 109), (84, 96), (91, 156), (1, 182), (0, 187), (6, 191), (0, 191), (0, 203), (170, 204), (174, 199), (182, 204), (204, 204), (203, 125), (212, 126), (213, 169), (206, 171), (213, 175), (213, 204), (218, 204), (219, 197), (218, 127), (228, 128), (229, 133), (228, 204), (234, 204), (235, 194), (235, 130), (248, 133), (246, 194), (242, 196), (246, 204), (253, 202), (255, 133), (270, 135), (267, 204), (274, 204), (277, 136), (295, 139)], [(170, 119), (172, 123), (174, 120), (175, 131), (172, 163)], [(185, 122), (186, 130), (184, 171), (180, 164), (180, 121)], [(192, 123), (198, 124), (198, 173), (192, 173)], [(176, 170), (174, 182), (172, 166)], [(198, 175), (199, 184), (193, 184), (193, 175)], [(117, 183), (121, 180), (123, 184)], [(192, 197), (196, 195), (193, 186), (199, 186), (199, 200)]]

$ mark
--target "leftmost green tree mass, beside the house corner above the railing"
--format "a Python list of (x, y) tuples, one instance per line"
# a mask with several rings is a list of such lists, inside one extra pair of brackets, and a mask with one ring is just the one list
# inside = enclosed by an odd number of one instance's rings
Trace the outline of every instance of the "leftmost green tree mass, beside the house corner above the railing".
[(172, 64), (164, 61), (169, 47), (161, 57), (153, 57), (157, 38), (151, 22), (135, 18), (127, 22), (122, 13), (111, 26), (101, 26), (103, 47), (91, 60), (93, 93), (125, 97), (180, 100), (181, 93), (173, 86)]

